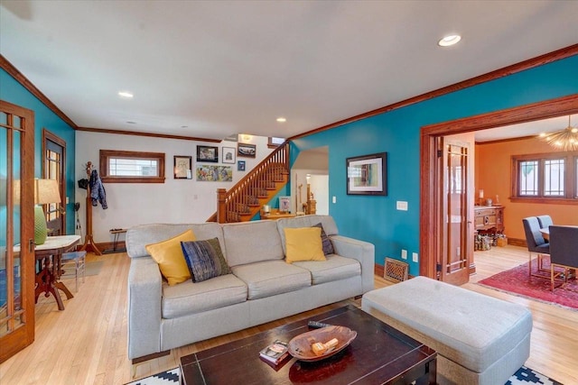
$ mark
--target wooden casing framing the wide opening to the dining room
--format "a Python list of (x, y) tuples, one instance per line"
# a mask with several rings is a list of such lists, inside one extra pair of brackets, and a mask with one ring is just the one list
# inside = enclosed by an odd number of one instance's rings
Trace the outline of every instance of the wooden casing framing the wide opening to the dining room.
[[(419, 273), (425, 277), (436, 278), (436, 252), (439, 250), (437, 198), (439, 196), (438, 180), (436, 179), (435, 138), (454, 133), (470, 133), (474, 131), (496, 128), (509, 124), (520, 124), (540, 119), (578, 113), (578, 95), (563, 96), (531, 105), (521, 105), (488, 114), (474, 115), (440, 124), (422, 127), (420, 138), (420, 252), (422, 262)], [(470, 192), (473, 194), (473, 192)]]

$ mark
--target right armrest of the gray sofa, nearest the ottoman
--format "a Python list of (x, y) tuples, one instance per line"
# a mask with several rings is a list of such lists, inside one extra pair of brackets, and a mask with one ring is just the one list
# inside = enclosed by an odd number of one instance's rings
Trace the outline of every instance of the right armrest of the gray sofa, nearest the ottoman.
[(376, 248), (373, 243), (359, 241), (342, 235), (331, 235), (335, 253), (342, 257), (353, 258), (361, 263), (361, 283), (363, 292), (374, 289)]

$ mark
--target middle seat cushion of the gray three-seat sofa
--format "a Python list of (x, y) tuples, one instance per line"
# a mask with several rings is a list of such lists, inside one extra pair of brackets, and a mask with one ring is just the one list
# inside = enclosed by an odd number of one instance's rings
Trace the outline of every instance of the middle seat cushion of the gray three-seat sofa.
[(232, 267), (233, 274), (247, 284), (247, 298), (265, 298), (311, 286), (309, 270), (284, 261), (262, 261)]

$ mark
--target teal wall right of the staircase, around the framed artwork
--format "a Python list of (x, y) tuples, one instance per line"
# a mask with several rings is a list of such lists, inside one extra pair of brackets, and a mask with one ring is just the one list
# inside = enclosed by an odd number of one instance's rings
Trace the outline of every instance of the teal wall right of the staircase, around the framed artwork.
[[(578, 56), (573, 56), (294, 140), (291, 164), (300, 151), (329, 145), (330, 202), (337, 198), (330, 215), (340, 234), (374, 243), (381, 265), (385, 257), (400, 259), (406, 249), (409, 273), (419, 275), (411, 253), (420, 252), (420, 236), (428, 236), (419, 234), (421, 127), (577, 93)], [(382, 151), (387, 197), (348, 196), (346, 158)], [(397, 200), (408, 202), (408, 211), (397, 211)]]

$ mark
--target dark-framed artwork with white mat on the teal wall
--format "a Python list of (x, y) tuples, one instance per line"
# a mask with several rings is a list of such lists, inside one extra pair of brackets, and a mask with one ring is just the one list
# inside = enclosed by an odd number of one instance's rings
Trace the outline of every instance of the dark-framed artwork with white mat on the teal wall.
[(387, 196), (387, 152), (346, 160), (348, 195)]

